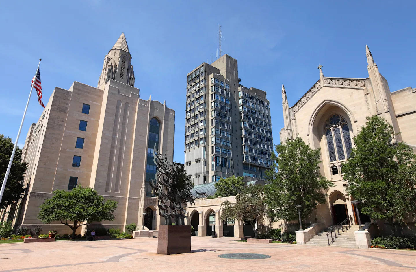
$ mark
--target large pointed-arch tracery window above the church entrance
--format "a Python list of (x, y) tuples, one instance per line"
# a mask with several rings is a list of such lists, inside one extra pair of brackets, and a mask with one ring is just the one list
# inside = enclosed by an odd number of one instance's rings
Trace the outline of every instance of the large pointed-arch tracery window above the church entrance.
[(333, 114), (324, 125), (327, 138), (329, 162), (349, 158), (352, 149), (347, 120), (341, 115)]

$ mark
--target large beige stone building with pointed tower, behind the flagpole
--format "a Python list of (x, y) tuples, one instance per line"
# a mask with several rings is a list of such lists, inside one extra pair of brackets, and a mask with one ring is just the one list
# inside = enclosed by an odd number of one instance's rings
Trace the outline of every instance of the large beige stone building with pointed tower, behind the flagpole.
[[(1, 211), (1, 221), (12, 220), (15, 227), (41, 225), (39, 205), (55, 190), (81, 184), (118, 202), (115, 220), (101, 222), (104, 227), (124, 230), (136, 223), (156, 230), (160, 217), (149, 187), (156, 172), (153, 147), (173, 159), (175, 111), (151, 98), (141, 99), (134, 83), (123, 33), (104, 57), (97, 87), (74, 82), (68, 90), (54, 89), (23, 148), (27, 192)], [(59, 222), (42, 229), (71, 232)]]

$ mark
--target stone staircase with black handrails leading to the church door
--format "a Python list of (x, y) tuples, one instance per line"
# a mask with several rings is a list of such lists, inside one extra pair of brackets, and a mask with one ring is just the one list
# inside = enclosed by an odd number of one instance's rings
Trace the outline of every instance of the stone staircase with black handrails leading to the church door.
[[(339, 233), (341, 235), (338, 236), (337, 232), (337, 239), (335, 239), (334, 232), (332, 232), (332, 237), (334, 237), (334, 242), (331, 241), (331, 235), (329, 234), (329, 242), (331, 243), (331, 247), (349, 247), (349, 248), (357, 248), (357, 244), (355, 242), (355, 236), (354, 232), (357, 231), (358, 225), (352, 225), (351, 228), (348, 228), (348, 230), (345, 230), (344, 232), (341, 232), (339, 230)], [(312, 237), (311, 240), (309, 240), (306, 245), (315, 245), (315, 246), (328, 246), (328, 238), (327, 238), (328, 229), (319, 232), (317, 235)]]

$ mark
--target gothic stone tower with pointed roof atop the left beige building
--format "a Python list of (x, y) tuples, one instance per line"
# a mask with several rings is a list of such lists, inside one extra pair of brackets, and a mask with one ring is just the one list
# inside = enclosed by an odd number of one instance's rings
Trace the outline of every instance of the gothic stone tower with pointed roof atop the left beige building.
[(124, 33), (121, 33), (116, 44), (104, 57), (104, 65), (97, 88), (104, 90), (106, 82), (110, 79), (134, 87), (133, 65), (131, 65), (131, 55)]

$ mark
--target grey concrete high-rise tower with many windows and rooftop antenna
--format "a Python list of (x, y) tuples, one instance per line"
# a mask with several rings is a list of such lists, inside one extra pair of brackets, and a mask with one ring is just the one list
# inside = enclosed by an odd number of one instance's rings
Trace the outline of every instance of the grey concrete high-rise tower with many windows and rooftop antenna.
[(185, 170), (195, 185), (232, 175), (262, 179), (272, 165), (266, 92), (240, 81), (229, 55), (187, 75)]

